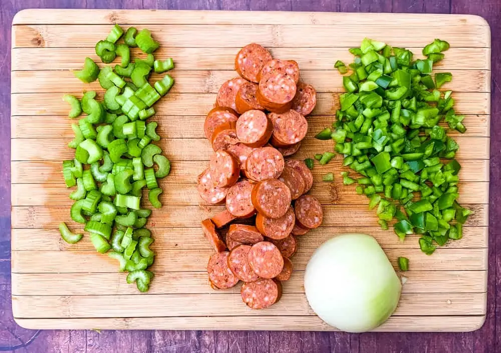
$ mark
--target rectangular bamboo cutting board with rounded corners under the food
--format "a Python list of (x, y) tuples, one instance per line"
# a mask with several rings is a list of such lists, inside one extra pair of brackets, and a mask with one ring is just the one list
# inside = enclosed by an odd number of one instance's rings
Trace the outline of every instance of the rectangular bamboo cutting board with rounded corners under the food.
[[(155, 53), (172, 56), (176, 83), (156, 104), (162, 136), (159, 145), (172, 161), (160, 182), (163, 208), (154, 210), (152, 228), (157, 253), (155, 278), (147, 294), (125, 282), (108, 256), (97, 253), (85, 236), (69, 245), (57, 225), (71, 221), (71, 200), (61, 164), (73, 157), (63, 93), (103, 90), (83, 84), (70, 69), (85, 56), (97, 59), (95, 43), (112, 23), (149, 28), (161, 42)], [(16, 321), (30, 328), (262, 329), (333, 330), (314, 315), (304, 295), (303, 274), (314, 249), (344, 231), (374, 235), (396, 266), (410, 259), (411, 270), (397, 310), (378, 330), (466, 331), (481, 326), (486, 310), (490, 33), (487, 23), (470, 15), (369, 14), (307, 12), (226, 12), (149, 10), (24, 10), (12, 28), (12, 300)], [(217, 89), (236, 75), (238, 48), (258, 42), (275, 57), (294, 59), (304, 81), (318, 91), (309, 117), (310, 130), (296, 158), (332, 148), (313, 135), (334, 120), (343, 92), (337, 60), (351, 62), (348, 48), (365, 36), (415, 54), (436, 36), (450, 42), (439, 71), (450, 71), (456, 111), (465, 114), (466, 133), (457, 136), (460, 202), (475, 211), (461, 240), (432, 256), (419, 249), (417, 236), (400, 242), (377, 224), (367, 199), (343, 186), (341, 158), (314, 169), (312, 193), (324, 205), (324, 224), (300, 238), (295, 272), (284, 283), (279, 303), (250, 310), (239, 285), (214, 291), (207, 284), (211, 249), (199, 221), (222, 206), (200, 204), (195, 180), (212, 152), (203, 136), (204, 115)], [(133, 50), (137, 54), (137, 50)], [(419, 55), (420, 56), (420, 55)], [(155, 75), (154, 75), (155, 76)], [(153, 80), (156, 77), (153, 77)], [(332, 171), (334, 183), (322, 181)]]

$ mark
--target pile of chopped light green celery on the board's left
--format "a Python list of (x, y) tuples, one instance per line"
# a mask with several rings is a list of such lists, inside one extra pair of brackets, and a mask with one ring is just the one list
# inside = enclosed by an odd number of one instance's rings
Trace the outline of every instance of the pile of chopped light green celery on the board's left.
[[(125, 43), (117, 43), (123, 34), (115, 24), (106, 40), (96, 44), (96, 53), (103, 62), (111, 63), (120, 56), (120, 64), (99, 69), (86, 57), (84, 68), (74, 72), (84, 82), (98, 79), (106, 89), (104, 101), (95, 99), (95, 91), (84, 92), (81, 100), (69, 94), (63, 97), (71, 104), (70, 118), (87, 114), (72, 124), (75, 138), (68, 146), (75, 148), (75, 158), (63, 161), (63, 175), (67, 187), (77, 186), (70, 193), (75, 200), (71, 218), (85, 224), (84, 230), (90, 233), (98, 252), (112, 249), (108, 255), (119, 261), (120, 271), (129, 272), (127, 282), (136, 282), (139, 291), (144, 292), (153, 277), (146, 269), (155, 254), (149, 248), (153, 242), (151, 231), (144, 227), (151, 209), (141, 207), (142, 191), (146, 186), (151, 205), (160, 208), (158, 196), (162, 189), (157, 178), (170, 172), (170, 161), (159, 146), (150, 143), (160, 139), (155, 131), (157, 123), (145, 120), (155, 113), (152, 105), (174, 83), (165, 74), (151, 86), (148, 76), (152, 69), (162, 73), (174, 68), (174, 63), (172, 58), (155, 60), (152, 52), (159, 43), (148, 29), (137, 32), (130, 27)], [(131, 62), (130, 47), (135, 46), (147, 53), (146, 59)], [(59, 229), (68, 243), (82, 238), (64, 222)]]

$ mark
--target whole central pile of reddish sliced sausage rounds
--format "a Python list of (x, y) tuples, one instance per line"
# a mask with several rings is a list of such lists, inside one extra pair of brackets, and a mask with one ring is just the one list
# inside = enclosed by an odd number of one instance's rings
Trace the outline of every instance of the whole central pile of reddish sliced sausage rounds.
[[(214, 153), (197, 187), (206, 203), (226, 204), (201, 222), (216, 251), (207, 264), (210, 285), (225, 289), (241, 280), (243, 302), (261, 309), (279, 300), (281, 281), (292, 274), (296, 236), (322, 224), (320, 202), (306, 193), (310, 169), (284, 159), (308, 132), (305, 115), (316, 92), (299, 81), (296, 61), (274, 59), (256, 43), (238, 52), (235, 68), (241, 77), (222, 84), (205, 119)], [(230, 224), (223, 240), (219, 228), (235, 219), (244, 224)]]

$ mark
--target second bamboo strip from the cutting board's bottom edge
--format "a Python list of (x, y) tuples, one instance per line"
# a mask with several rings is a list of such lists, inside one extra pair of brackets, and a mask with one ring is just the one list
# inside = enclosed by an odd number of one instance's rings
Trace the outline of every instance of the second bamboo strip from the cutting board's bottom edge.
[[(204, 281), (207, 279), (205, 278)], [(153, 287), (152, 284), (151, 286)], [(207, 284), (208, 285), (208, 284)], [(190, 299), (187, 300), (186, 294)], [(18, 300), (18, 299), (22, 300)], [(15, 317), (117, 317), (159, 316), (262, 316), (242, 305), (240, 293), (209, 294), (120, 294), (120, 305), (101, 305), (105, 295), (13, 295)], [(426, 310), (433, 302), (433, 311)], [(124, 308), (125, 312), (124, 312)], [(395, 316), (481, 315), (485, 313), (484, 293), (402, 293)], [(304, 293), (288, 293), (266, 310), (267, 316), (313, 316)]]

